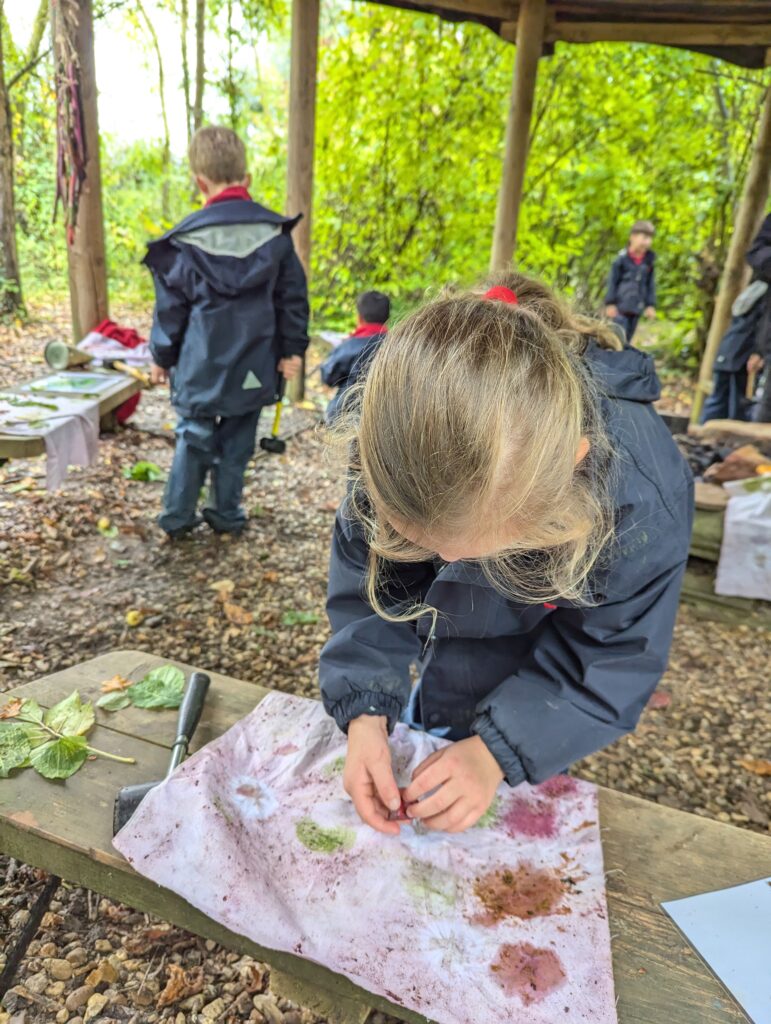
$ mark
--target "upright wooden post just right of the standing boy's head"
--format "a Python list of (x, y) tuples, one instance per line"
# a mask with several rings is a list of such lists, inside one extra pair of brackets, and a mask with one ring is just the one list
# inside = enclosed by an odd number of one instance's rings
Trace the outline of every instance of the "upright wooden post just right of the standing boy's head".
[[(303, 218), (292, 232), (297, 255), (310, 280), (310, 226), (313, 204), (316, 68), (318, 63), (319, 0), (292, 2), (292, 61), (289, 76), (289, 148), (287, 213)], [(291, 397), (305, 393), (305, 367), (290, 385)]]

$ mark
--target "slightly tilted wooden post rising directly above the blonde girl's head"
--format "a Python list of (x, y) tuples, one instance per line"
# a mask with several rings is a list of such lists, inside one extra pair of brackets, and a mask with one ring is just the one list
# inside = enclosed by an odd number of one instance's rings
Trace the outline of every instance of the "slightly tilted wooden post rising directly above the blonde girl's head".
[(517, 53), (506, 125), (503, 177), (492, 234), (491, 270), (508, 266), (516, 248), (536, 76), (544, 46), (545, 25), (546, 0), (522, 0), (517, 19)]

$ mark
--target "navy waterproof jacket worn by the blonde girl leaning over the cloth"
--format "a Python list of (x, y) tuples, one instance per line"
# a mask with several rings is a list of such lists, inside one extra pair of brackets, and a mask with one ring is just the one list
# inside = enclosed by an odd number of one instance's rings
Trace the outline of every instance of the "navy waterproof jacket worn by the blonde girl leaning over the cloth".
[(635, 728), (667, 666), (691, 532), (693, 483), (652, 401), (650, 356), (594, 344), (587, 361), (601, 390), (615, 451), (616, 538), (593, 581), (591, 607), (508, 600), (473, 562), (394, 562), (388, 592), (438, 609), (389, 623), (362, 589), (368, 546), (338, 512), (320, 658), (327, 711), (342, 729), (359, 715), (389, 727), (421, 671), (420, 716), (451, 739), (478, 734), (511, 785), (540, 782)]

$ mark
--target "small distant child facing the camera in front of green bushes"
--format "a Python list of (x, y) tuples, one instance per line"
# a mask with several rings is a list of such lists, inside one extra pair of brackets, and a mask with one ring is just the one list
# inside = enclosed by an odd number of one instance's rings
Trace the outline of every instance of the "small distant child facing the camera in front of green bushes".
[(638, 220), (632, 225), (629, 245), (613, 260), (605, 292), (607, 316), (624, 328), (627, 342), (637, 330), (644, 313), (651, 319), (656, 314), (655, 253), (653, 225)]

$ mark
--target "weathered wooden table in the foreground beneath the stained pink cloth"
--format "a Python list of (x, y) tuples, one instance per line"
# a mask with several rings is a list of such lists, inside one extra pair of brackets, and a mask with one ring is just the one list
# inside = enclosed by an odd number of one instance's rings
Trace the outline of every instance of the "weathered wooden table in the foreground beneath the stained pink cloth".
[[(152, 654), (116, 651), (12, 693), (35, 696), (44, 707), (74, 689), (84, 698), (97, 698), (99, 684), (116, 673), (136, 680), (161, 664)], [(194, 749), (220, 735), (267, 693), (254, 684), (210, 675)], [(88, 762), (62, 782), (30, 769), (0, 780), (3, 853), (267, 962), (273, 968), (271, 983), (282, 994), (332, 1021), (361, 1022), (369, 1008), (408, 1021), (425, 1020), (325, 968), (255, 945), (137, 874), (112, 847), (113, 802), (122, 785), (163, 777), (176, 713), (128, 708), (113, 715), (97, 710), (96, 715), (89, 736), (93, 745), (134, 757), (136, 764)], [(659, 902), (771, 873), (771, 839), (610, 790), (600, 791), (600, 823), (619, 1024), (745, 1021)]]

